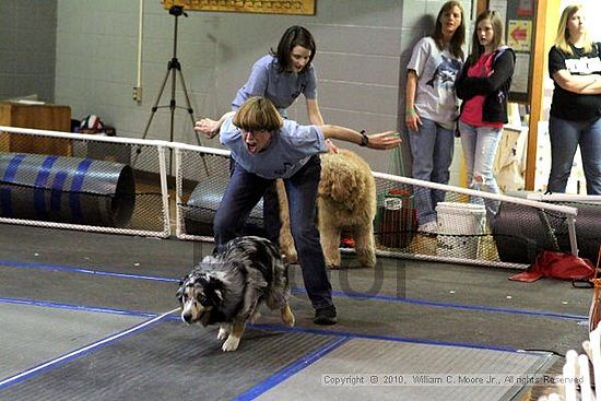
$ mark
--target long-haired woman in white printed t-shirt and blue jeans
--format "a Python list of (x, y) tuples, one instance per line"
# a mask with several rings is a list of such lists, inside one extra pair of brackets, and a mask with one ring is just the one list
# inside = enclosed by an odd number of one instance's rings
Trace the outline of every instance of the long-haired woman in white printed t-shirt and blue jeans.
[[(413, 48), (406, 66), (405, 126), (409, 129), (412, 176), (425, 181), (448, 184), (459, 115), (455, 80), (463, 64), (466, 40), (463, 8), (447, 1), (438, 12), (434, 34)], [(415, 188), (419, 231), (436, 231), (436, 203), (443, 191)]]

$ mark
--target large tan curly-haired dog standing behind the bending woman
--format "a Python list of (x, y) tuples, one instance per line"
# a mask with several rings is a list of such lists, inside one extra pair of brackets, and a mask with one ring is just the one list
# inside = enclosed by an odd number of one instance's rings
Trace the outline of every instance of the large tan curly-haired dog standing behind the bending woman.
[[(284, 185), (278, 180), (280, 200), (280, 248), (291, 263), (297, 261), (290, 232), (290, 215)], [(340, 234), (347, 231), (355, 239), (355, 252), (362, 267), (376, 266), (374, 217), (376, 181), (369, 165), (356, 153), (339, 150), (321, 155), (321, 178), (317, 199), (317, 219), (321, 249), (330, 269), (340, 267)]]

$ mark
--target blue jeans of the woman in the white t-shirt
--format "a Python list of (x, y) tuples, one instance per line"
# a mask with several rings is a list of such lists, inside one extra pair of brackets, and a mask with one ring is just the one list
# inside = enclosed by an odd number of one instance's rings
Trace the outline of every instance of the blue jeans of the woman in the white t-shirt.
[[(422, 118), (419, 131), (409, 130), (409, 143), (413, 158), (412, 176), (424, 181), (448, 184), (452, 162), (455, 133), (433, 120)], [(445, 191), (415, 187), (413, 192), (417, 222), (436, 221), (436, 204), (445, 200)]]

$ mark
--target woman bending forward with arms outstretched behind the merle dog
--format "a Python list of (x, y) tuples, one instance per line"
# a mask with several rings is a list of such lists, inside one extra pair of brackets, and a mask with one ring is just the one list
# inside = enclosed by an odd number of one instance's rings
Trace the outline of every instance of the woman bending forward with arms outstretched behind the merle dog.
[[(329, 138), (379, 150), (397, 146), (400, 138), (393, 131), (366, 135), (332, 125), (300, 126), (283, 119), (273, 104), (260, 96), (250, 97), (237, 111), (225, 114), (220, 121), (220, 141), (232, 151), (234, 168), (213, 222), (217, 250), (238, 235), (264, 191), (276, 178), (282, 178), (298, 263), (316, 309), (314, 322), (334, 325), (332, 287), (315, 225), (321, 172), (319, 153), (328, 151), (326, 140)], [(212, 132), (214, 123), (203, 118), (195, 129)]]

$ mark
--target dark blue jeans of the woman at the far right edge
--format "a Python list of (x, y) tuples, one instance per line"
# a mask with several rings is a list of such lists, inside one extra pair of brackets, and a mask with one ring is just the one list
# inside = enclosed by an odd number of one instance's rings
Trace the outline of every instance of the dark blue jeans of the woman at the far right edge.
[(565, 192), (576, 148), (580, 145), (587, 193), (601, 194), (601, 118), (592, 121), (549, 119), (551, 173), (546, 189)]

